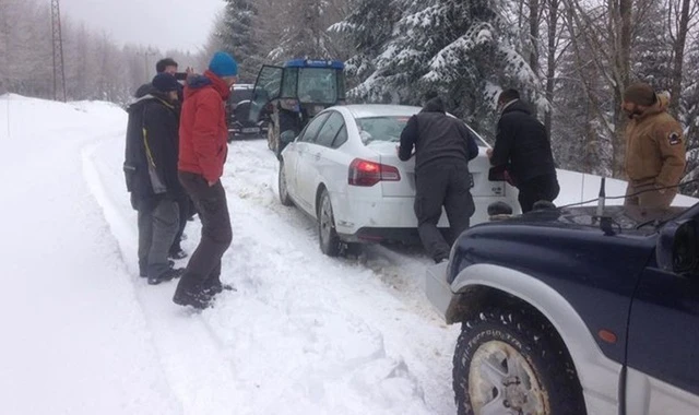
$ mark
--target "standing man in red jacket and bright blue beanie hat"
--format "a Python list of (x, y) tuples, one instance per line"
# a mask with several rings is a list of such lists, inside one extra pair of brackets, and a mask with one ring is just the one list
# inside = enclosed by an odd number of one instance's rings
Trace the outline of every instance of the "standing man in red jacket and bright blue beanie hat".
[(216, 294), (230, 289), (221, 283), (221, 258), (233, 233), (226, 192), (221, 185), (228, 151), (225, 102), (236, 82), (233, 57), (216, 52), (203, 75), (190, 75), (179, 123), (179, 180), (197, 205), (201, 240), (192, 253), (173, 301), (206, 308)]

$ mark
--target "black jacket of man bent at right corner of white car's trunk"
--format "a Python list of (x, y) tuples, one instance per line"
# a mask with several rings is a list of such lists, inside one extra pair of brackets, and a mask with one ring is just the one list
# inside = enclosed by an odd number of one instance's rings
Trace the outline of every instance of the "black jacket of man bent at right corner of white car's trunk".
[(546, 128), (521, 100), (509, 103), (498, 120), (493, 166), (505, 166), (516, 183), (556, 175)]

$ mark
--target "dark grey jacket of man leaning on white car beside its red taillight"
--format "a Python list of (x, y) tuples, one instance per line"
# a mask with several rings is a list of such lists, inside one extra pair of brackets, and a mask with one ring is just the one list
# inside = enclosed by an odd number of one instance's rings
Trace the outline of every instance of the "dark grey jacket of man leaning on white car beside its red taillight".
[(445, 111), (440, 98), (433, 98), (412, 116), (401, 133), (399, 158), (407, 161), (415, 147), (415, 170), (445, 159), (469, 161), (478, 155), (478, 145), (460, 119)]

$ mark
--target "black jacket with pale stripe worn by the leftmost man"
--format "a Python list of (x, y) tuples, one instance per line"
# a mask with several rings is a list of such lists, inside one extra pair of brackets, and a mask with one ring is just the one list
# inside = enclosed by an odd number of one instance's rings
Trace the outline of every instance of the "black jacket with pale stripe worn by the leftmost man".
[(178, 198), (182, 188), (177, 177), (178, 114), (166, 96), (141, 87), (127, 108), (125, 175), (127, 189), (139, 199), (156, 194)]

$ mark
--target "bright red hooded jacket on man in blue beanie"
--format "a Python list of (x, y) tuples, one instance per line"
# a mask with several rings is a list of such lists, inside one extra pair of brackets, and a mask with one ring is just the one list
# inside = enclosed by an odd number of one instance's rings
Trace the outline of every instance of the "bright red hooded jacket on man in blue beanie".
[(228, 152), (225, 102), (229, 95), (228, 85), (211, 71), (187, 79), (179, 124), (179, 170), (202, 175), (212, 182), (221, 178)]

